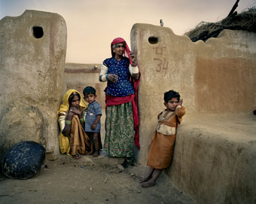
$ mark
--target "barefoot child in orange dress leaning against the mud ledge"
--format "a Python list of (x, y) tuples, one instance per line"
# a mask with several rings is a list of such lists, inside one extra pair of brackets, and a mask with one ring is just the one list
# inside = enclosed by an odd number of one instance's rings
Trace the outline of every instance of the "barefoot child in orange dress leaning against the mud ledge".
[(163, 169), (169, 166), (175, 144), (176, 129), (181, 123), (185, 108), (178, 92), (169, 90), (164, 93), (166, 109), (158, 114), (158, 124), (148, 153), (150, 166), (147, 175), (140, 180), (142, 187), (154, 186)]

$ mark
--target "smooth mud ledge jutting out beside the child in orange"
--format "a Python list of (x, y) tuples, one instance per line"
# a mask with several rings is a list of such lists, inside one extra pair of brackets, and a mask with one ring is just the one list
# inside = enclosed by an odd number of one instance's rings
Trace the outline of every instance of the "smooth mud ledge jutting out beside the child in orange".
[(254, 114), (186, 116), (178, 129), (169, 174), (199, 203), (256, 199)]

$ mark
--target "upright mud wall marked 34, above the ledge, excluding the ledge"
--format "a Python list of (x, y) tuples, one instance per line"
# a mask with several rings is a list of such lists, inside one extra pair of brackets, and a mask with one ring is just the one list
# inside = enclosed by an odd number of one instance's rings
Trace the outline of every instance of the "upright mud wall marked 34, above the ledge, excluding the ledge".
[[(251, 32), (224, 30), (219, 38), (193, 43), (171, 29), (135, 24), (132, 49), (142, 72), (139, 114), (145, 163), (163, 93), (176, 90), (187, 114), (249, 113), (256, 107), (256, 41)], [(145, 135), (145, 136), (144, 136)]]

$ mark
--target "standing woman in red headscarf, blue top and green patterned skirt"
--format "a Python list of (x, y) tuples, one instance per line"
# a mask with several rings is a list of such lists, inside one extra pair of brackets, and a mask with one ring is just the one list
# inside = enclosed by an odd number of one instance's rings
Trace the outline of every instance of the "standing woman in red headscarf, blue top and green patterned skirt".
[(126, 164), (133, 160), (134, 145), (139, 148), (140, 73), (136, 56), (123, 38), (111, 42), (111, 54), (104, 60), (99, 75), (99, 81), (107, 81), (104, 150), (110, 157), (126, 157)]

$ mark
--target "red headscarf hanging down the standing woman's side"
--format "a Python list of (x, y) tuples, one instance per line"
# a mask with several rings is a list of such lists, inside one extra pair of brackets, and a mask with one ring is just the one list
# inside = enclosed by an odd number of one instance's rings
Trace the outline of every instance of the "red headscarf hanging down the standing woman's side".
[[(130, 48), (128, 47), (128, 44), (126, 44), (126, 41), (123, 40), (123, 38), (114, 38), (114, 40), (111, 42), (111, 54), (114, 57), (114, 52), (112, 49), (113, 44), (118, 44), (124, 42), (126, 49), (124, 50), (124, 56), (128, 57), (130, 59), (130, 64), (132, 65), (132, 60), (130, 58)], [(134, 136), (134, 143), (135, 145), (140, 149), (139, 145), (139, 113), (138, 113), (138, 87), (139, 87), (139, 80), (141, 78), (141, 73), (139, 72), (139, 79), (134, 80), (133, 78), (130, 78), (130, 81), (132, 81), (135, 93), (134, 93), (134, 99), (133, 99), (133, 124), (134, 129), (136, 131)]]

